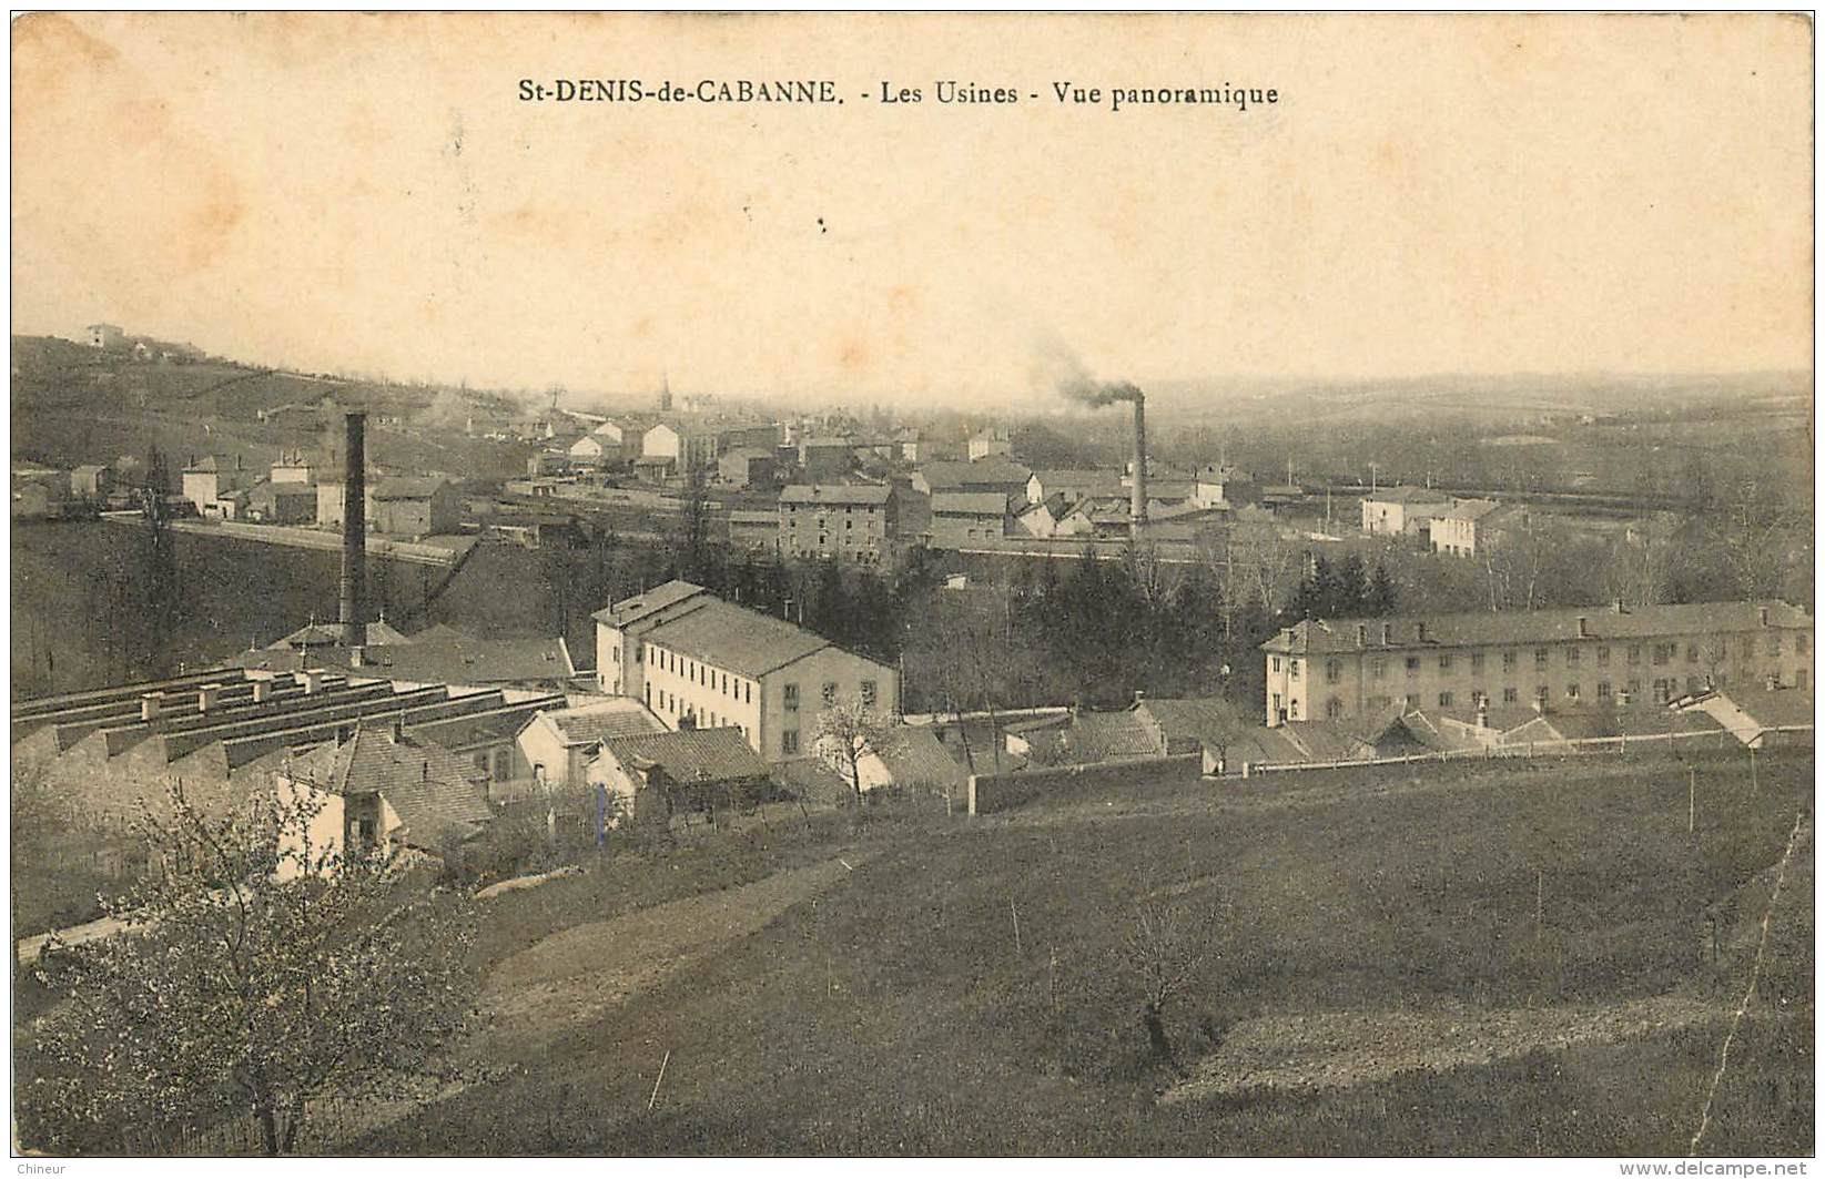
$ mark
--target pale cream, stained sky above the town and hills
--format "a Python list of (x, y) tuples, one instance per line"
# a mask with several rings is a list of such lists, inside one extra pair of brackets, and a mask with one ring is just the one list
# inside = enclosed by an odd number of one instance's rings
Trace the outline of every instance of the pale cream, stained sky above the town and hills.
[[(1810, 51), (1765, 15), (35, 15), (13, 330), (958, 405), (1044, 403), (1058, 356), (1141, 383), (1810, 369)], [(843, 104), (518, 99), (560, 77)], [(1219, 84), (1279, 100), (1108, 106)]]

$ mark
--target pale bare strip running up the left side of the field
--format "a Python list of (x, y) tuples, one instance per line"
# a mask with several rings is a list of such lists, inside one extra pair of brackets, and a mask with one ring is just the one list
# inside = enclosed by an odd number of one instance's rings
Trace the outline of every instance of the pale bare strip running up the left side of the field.
[(849, 863), (827, 860), (750, 885), (571, 925), (496, 965), (482, 991), (482, 1011), (496, 1031), (507, 1033), (584, 1022), (759, 931), (860, 863), (856, 856)]

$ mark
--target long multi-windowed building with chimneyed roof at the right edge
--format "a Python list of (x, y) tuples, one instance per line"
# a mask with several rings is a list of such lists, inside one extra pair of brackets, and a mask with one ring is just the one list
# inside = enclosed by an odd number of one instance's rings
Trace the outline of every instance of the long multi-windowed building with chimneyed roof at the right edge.
[(1732, 683), (1810, 690), (1812, 619), (1778, 600), (1314, 619), (1261, 652), (1268, 725), (1391, 704), (1666, 703)]

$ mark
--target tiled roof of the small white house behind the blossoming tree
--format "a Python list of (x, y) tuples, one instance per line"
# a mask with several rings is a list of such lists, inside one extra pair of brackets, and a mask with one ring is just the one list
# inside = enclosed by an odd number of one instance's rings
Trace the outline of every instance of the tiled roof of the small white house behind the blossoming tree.
[(391, 721), (358, 725), (347, 741), (294, 757), (283, 774), (328, 794), (380, 794), (422, 847), (493, 818), (474, 768), (409, 732), (394, 736)]

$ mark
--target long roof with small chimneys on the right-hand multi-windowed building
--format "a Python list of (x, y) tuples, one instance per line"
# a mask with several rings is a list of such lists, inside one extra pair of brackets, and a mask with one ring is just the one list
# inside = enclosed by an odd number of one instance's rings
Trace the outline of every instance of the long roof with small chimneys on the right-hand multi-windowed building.
[[(1630, 606), (1617, 613), (1602, 606), (1575, 606), (1566, 610), (1515, 610), (1442, 615), (1400, 615), (1392, 619), (1316, 619), (1299, 622), (1261, 644), (1265, 652), (1290, 655), (1323, 655), (1358, 650), (1400, 650), (1434, 646), (1495, 646), (1529, 642), (1566, 642), (1579, 639), (1579, 619), (1586, 622), (1584, 639), (1652, 639), (1657, 635), (1710, 635), (1761, 628), (1761, 611), (1768, 611), (1768, 626), (1812, 626), (1798, 606), (1787, 602), (1688, 602), (1679, 606)], [(1382, 642), (1382, 626), (1391, 628), (1389, 642)], [(1356, 628), (1367, 628), (1365, 644), (1356, 644)], [(1420, 639), (1420, 628), (1425, 639)]]

